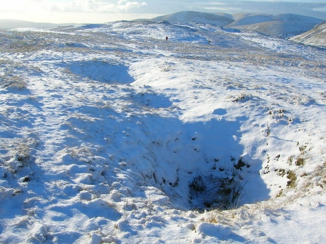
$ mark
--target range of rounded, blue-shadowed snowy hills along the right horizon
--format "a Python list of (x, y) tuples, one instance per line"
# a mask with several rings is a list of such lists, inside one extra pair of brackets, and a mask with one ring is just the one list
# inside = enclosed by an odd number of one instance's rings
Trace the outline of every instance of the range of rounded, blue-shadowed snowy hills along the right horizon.
[(305, 33), (322, 22), (322, 19), (296, 14), (226, 14), (194, 11), (176, 12), (147, 20), (154, 22), (203, 22), (244, 31), (260, 32), (281, 38), (289, 38)]

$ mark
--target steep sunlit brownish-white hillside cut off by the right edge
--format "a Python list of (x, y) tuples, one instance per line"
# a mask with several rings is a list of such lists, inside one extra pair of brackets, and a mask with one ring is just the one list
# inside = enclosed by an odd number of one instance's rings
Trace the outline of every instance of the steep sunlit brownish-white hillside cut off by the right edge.
[(289, 40), (326, 48), (326, 21), (316, 25), (310, 31), (292, 37)]

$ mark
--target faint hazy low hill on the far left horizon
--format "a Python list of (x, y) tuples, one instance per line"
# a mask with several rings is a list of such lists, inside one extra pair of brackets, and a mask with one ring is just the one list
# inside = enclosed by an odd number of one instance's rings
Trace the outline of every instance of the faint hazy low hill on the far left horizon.
[[(69, 24), (60, 24), (60, 25), (69, 25)], [(14, 28), (53, 28), (58, 27), (59, 24), (55, 23), (38, 23), (17, 19), (0, 19), (0, 29), (7, 31), (8, 29)]]

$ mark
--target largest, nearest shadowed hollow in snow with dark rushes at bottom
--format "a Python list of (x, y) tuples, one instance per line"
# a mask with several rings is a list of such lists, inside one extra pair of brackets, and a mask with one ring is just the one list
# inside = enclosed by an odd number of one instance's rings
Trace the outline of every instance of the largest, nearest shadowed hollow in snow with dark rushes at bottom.
[(269, 198), (259, 174), (262, 162), (243, 154), (238, 121), (183, 123), (170, 118), (148, 128), (145, 158), (152, 162), (156, 187), (172, 203), (224, 210)]

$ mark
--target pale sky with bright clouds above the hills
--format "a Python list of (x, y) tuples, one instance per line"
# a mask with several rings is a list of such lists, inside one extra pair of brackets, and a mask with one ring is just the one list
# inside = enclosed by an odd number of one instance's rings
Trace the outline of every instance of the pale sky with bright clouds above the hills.
[(292, 13), (326, 19), (326, 1), (0, 0), (0, 19), (34, 22), (104, 23), (153, 18), (179, 11)]

